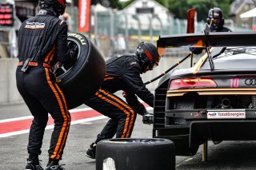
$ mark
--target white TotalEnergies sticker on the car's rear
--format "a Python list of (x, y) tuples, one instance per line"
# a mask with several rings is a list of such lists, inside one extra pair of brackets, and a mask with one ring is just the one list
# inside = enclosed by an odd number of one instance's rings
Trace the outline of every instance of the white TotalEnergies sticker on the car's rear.
[(209, 111), (208, 119), (242, 119), (246, 118), (246, 112), (241, 111)]

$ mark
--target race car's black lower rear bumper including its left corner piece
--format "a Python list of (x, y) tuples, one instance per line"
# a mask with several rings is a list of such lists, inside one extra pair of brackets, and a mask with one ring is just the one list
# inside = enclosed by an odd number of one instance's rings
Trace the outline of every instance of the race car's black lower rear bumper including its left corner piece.
[(256, 140), (256, 121), (190, 121), (187, 125), (154, 128), (153, 137), (188, 143), (190, 147), (206, 140)]

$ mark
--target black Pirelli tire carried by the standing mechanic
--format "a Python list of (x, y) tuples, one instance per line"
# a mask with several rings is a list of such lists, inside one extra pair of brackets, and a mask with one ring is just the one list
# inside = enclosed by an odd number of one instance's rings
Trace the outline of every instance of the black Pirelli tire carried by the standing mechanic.
[(106, 63), (86, 36), (68, 33), (67, 40), (71, 47), (77, 45), (77, 60), (71, 65), (62, 65), (54, 73), (68, 109), (74, 109), (97, 92), (106, 74)]

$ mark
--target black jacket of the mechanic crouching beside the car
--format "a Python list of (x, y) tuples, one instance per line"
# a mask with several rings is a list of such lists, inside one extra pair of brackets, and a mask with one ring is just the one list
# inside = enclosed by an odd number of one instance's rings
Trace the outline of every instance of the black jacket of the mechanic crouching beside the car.
[(138, 97), (145, 101), (151, 107), (154, 106), (154, 95), (146, 89), (140, 77), (141, 66), (136, 55), (122, 55), (112, 57), (106, 61), (106, 78), (102, 84), (102, 89), (111, 93), (118, 90), (126, 92), (126, 101), (137, 111), (144, 107), (138, 101)]

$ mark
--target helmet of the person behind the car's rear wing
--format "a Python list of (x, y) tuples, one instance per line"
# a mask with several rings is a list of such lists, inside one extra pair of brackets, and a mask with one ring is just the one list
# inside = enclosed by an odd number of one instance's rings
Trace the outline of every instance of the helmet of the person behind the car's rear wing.
[(218, 30), (224, 25), (224, 18), (220, 8), (212, 8), (208, 12), (207, 23), (210, 25), (210, 30)]

